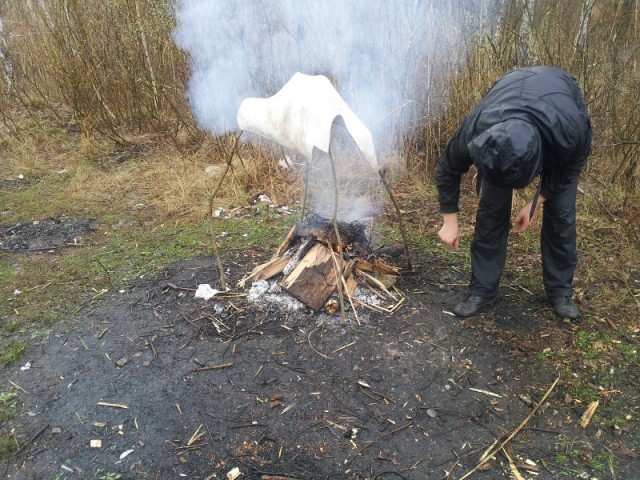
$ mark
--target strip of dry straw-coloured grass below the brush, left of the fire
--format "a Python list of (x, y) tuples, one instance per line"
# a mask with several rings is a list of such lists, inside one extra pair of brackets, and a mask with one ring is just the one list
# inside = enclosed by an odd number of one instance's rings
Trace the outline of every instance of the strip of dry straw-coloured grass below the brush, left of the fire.
[[(128, 141), (144, 148), (119, 163), (114, 152), (121, 151), (114, 150), (110, 142), (89, 142), (84, 136), (69, 136), (46, 126), (30, 128), (20, 139), (5, 134), (0, 141), (6, 151), (0, 158), (0, 180), (15, 187), (40, 185), (20, 201), (19, 216), (23, 219), (39, 217), (45, 210), (50, 215), (96, 215), (116, 205), (122, 211), (144, 206), (169, 217), (203, 218), (209, 195), (220, 182), (228, 158), (225, 146), (216, 139), (184, 151), (174, 143), (138, 136)], [(281, 168), (277, 160), (259, 146), (242, 147), (234, 156), (214, 205), (226, 209), (246, 206), (259, 194), (277, 204), (297, 201), (300, 177)], [(17, 181), (18, 175), (24, 179)], [(62, 192), (58, 184), (64, 185)], [(13, 210), (18, 215), (18, 209)]]

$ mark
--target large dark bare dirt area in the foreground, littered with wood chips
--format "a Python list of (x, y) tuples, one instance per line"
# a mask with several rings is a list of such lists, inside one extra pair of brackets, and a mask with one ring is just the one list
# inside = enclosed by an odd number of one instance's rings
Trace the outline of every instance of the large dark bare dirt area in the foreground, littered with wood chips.
[[(228, 256), (231, 283), (269, 253)], [(194, 298), (216, 284), (210, 257), (88, 301), (0, 372), (23, 405), (2, 423), (19, 445), (4, 478), (460, 479), (496, 439), (469, 478), (509, 478), (507, 455), (522, 478), (638, 478), (629, 432), (581, 428), (537, 360), (577, 327), (517, 292), (455, 318), (466, 274), (413, 253), (392, 315)], [(599, 452), (615, 468), (596, 471)]]

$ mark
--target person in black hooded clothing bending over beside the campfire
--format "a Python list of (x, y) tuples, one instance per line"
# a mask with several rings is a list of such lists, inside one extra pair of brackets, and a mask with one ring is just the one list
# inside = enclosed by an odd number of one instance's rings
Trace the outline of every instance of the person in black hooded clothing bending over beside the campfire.
[(438, 159), (436, 186), (443, 217), (438, 236), (458, 249), (460, 179), (477, 169), (480, 202), (471, 242), (471, 280), (453, 313), (471, 317), (493, 303), (507, 254), (513, 189), (538, 177), (536, 192), (513, 220), (526, 231), (542, 207), (542, 277), (554, 311), (577, 319), (573, 301), (578, 178), (591, 152), (591, 121), (576, 79), (561, 68), (519, 68), (501, 76)]

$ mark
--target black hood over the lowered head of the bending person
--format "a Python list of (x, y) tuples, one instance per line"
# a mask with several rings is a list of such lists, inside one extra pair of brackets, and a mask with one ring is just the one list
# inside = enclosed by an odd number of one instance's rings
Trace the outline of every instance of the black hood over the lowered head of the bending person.
[(498, 123), (467, 147), (483, 180), (498, 187), (524, 188), (542, 169), (540, 133), (525, 120)]

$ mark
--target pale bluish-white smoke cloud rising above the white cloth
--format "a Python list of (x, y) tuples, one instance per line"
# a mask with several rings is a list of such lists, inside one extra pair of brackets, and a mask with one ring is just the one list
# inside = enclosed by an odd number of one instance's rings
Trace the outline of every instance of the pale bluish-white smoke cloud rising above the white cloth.
[(237, 129), (243, 99), (273, 95), (301, 72), (327, 76), (383, 142), (415, 128), (430, 82), (464, 58), (459, 47), (490, 4), (182, 0), (174, 40), (191, 59), (192, 112), (214, 135)]

